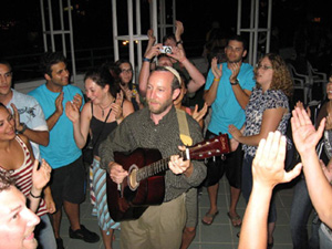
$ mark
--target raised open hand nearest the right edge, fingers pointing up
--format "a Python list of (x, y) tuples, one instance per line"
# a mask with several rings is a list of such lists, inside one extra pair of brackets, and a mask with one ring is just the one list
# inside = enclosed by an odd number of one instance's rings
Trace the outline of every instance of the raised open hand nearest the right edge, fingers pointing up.
[(292, 135), (295, 147), (300, 155), (303, 155), (305, 152), (310, 152), (311, 149), (315, 149), (315, 146), (322, 137), (324, 131), (325, 118), (321, 121), (318, 131), (315, 131), (304, 110), (295, 107), (292, 111)]

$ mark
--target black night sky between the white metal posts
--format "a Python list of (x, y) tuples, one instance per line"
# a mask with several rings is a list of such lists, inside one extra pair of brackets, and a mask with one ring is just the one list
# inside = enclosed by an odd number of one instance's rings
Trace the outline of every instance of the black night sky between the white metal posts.
[[(58, 1), (52, 1), (58, 2)], [(66, 1), (64, 1), (66, 2)], [(142, 0), (143, 33), (148, 29), (148, 2)], [(249, 0), (242, 0), (243, 7)], [(0, 29), (0, 55), (41, 52), (42, 27), (41, 11), (38, 0), (2, 0), (0, 23), (12, 21), (8, 30)], [(76, 8), (79, 3), (80, 8)], [(110, 0), (72, 0), (75, 49), (112, 45), (112, 7)], [(118, 13), (123, 21), (118, 22), (118, 33), (126, 32), (126, 1), (117, 1)], [(205, 35), (212, 21), (229, 32), (237, 24), (237, 0), (177, 0), (177, 19), (185, 25), (184, 40), (204, 43)], [(221, 4), (221, 7), (219, 7)], [(300, 23), (308, 23), (317, 15), (323, 17), (323, 23), (331, 23), (328, 8), (322, 8), (320, 0), (273, 0), (272, 27), (280, 28), (280, 39), (284, 46), (292, 43), (292, 35)], [(54, 8), (55, 9), (55, 8)], [(84, 13), (84, 15), (82, 15)], [(249, 13), (249, 12), (248, 12)], [(248, 23), (249, 15), (243, 15)], [(54, 17), (56, 20), (56, 17)], [(55, 27), (56, 29), (56, 27)], [(122, 33), (123, 32), (123, 33)]]

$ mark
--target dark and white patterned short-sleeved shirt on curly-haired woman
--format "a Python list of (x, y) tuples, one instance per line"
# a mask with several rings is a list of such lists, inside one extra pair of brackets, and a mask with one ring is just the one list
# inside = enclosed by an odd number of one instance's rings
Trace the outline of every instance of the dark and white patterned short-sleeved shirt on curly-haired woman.
[[(281, 90), (268, 90), (262, 93), (261, 89), (255, 87), (250, 95), (249, 103), (246, 107), (246, 128), (245, 136), (252, 136), (260, 133), (262, 115), (269, 108), (287, 108), (289, 112), (284, 114), (278, 125), (277, 131), (286, 134), (288, 121), (291, 116), (288, 97)], [(255, 156), (257, 146), (243, 145), (245, 155)]]

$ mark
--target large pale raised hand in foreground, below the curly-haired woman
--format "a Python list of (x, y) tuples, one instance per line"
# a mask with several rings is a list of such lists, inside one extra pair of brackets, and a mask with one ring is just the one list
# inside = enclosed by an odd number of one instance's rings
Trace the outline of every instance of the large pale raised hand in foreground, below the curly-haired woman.
[(280, 132), (269, 133), (267, 139), (261, 139), (252, 162), (253, 184), (273, 188), (277, 184), (289, 183), (295, 178), (302, 168), (298, 164), (291, 172), (284, 170), (287, 139)]

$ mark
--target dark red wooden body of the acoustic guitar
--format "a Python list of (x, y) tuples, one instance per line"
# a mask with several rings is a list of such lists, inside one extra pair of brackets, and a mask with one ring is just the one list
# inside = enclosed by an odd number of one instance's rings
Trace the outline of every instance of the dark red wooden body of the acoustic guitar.
[[(129, 174), (133, 167), (143, 168), (160, 159), (162, 154), (158, 149), (137, 148), (132, 153), (114, 153), (114, 160)], [(106, 175), (107, 204), (114, 221), (137, 219), (148, 206), (160, 205), (164, 200), (165, 173), (141, 180), (136, 189), (128, 185), (128, 176), (123, 180), (121, 190), (110, 174)]]

